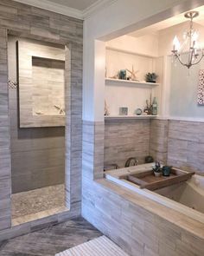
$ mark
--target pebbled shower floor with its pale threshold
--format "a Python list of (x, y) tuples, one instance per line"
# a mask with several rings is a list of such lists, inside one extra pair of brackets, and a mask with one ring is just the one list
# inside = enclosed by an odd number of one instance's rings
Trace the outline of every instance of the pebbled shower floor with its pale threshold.
[[(64, 184), (12, 194), (14, 225), (65, 210)], [(35, 218), (36, 217), (36, 218)]]

